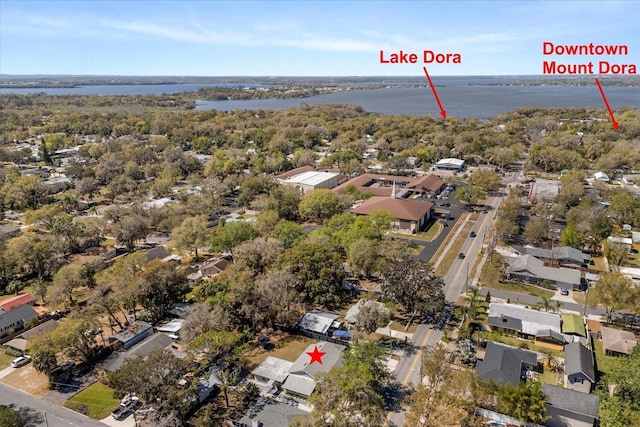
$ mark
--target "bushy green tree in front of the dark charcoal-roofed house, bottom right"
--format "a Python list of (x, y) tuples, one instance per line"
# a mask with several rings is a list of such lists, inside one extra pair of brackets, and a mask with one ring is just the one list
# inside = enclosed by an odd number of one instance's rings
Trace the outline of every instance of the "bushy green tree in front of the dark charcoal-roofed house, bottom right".
[(526, 381), (517, 386), (502, 385), (497, 390), (498, 411), (520, 421), (541, 424), (548, 419), (546, 399), (539, 381)]

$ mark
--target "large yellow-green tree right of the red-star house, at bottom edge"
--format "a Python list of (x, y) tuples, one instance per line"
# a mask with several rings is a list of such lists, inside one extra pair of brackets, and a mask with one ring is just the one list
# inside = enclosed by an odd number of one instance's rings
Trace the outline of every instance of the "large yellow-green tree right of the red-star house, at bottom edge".
[(316, 378), (311, 396), (314, 425), (372, 426), (384, 421), (382, 389), (390, 375), (384, 366), (385, 351), (370, 342), (359, 342), (344, 353), (344, 366)]

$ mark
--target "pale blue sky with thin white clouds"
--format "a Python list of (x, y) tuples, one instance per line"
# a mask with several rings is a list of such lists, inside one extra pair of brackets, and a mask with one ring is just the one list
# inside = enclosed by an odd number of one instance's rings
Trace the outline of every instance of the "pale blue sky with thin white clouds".
[[(537, 75), (542, 44), (626, 45), (640, 1), (0, 0), (0, 74), (153, 76)], [(417, 64), (381, 64), (380, 51)], [(460, 64), (424, 64), (423, 52)]]

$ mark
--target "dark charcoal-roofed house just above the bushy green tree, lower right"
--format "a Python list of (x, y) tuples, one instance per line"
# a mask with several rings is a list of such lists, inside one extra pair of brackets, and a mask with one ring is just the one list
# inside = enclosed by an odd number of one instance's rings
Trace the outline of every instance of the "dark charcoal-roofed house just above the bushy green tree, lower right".
[(518, 385), (537, 369), (536, 353), (494, 342), (487, 343), (484, 360), (476, 364), (480, 377), (496, 384)]

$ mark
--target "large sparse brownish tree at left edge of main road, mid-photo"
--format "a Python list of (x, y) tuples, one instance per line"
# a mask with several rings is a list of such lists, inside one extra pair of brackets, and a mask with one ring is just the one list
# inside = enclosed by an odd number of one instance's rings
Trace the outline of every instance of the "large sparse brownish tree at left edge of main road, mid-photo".
[(405, 260), (382, 273), (382, 291), (409, 312), (435, 312), (444, 304), (442, 279), (424, 261)]

